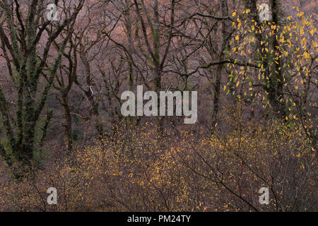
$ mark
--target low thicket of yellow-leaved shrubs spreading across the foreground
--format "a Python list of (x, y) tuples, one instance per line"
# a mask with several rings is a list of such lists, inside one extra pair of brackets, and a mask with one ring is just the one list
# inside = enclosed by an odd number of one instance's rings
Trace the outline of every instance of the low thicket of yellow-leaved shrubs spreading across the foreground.
[[(59, 152), (22, 181), (1, 184), (1, 210), (308, 211), (317, 208), (317, 162), (302, 128), (244, 122), (240, 107), (210, 135), (119, 123), (116, 135)], [(257, 125), (257, 126), (255, 126)], [(59, 191), (47, 205), (46, 189)], [(258, 190), (270, 188), (269, 206)]]

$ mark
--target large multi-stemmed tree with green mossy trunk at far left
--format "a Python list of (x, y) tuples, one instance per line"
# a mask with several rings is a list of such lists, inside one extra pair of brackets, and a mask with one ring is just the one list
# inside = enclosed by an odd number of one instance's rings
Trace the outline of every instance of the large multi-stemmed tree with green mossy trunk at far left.
[[(83, 3), (83, 0), (79, 1), (71, 16), (62, 22), (52, 22), (42, 17), (42, 9), (45, 8), (42, 1), (28, 1), (28, 6), (23, 9), (19, 1), (11, 4), (6, 0), (0, 1), (0, 8), (5, 13), (4, 23), (0, 25), (1, 49), (6, 55), (9, 76), (17, 87), (16, 107), (8, 106), (5, 88), (0, 87), (1, 122), (6, 131), (6, 144), (0, 145), (4, 150), (2, 155), (8, 163), (35, 163), (35, 151), (42, 148), (47, 126), (52, 118), (51, 112), (41, 126), (41, 113), (45, 109), (73, 24)], [(62, 32), (64, 36), (61, 36)], [(49, 52), (58, 38), (60, 42), (57, 54), (51, 57), (52, 53)], [(43, 74), (46, 75), (46, 83), (40, 82)], [(15, 114), (11, 113), (13, 111)]]

